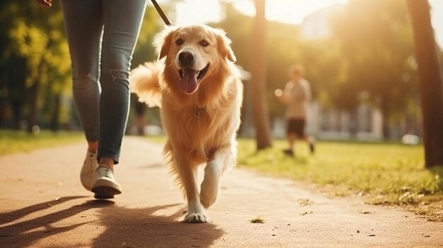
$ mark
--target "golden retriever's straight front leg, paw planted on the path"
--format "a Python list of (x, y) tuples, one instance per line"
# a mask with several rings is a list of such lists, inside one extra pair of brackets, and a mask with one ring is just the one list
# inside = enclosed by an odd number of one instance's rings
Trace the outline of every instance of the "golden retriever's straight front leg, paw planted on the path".
[(176, 161), (178, 161), (178, 175), (185, 188), (186, 199), (188, 200), (188, 213), (185, 215), (183, 221), (188, 223), (209, 222), (209, 218), (205, 215), (205, 210), (198, 197), (197, 165), (191, 165), (185, 162), (187, 160), (183, 157), (176, 158)]

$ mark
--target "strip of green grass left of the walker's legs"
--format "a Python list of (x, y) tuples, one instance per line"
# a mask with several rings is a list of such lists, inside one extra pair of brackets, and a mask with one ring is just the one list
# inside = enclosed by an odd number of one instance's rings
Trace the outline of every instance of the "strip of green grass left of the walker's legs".
[(59, 146), (84, 140), (84, 134), (73, 131), (26, 131), (0, 130), (0, 155), (28, 152), (42, 147)]

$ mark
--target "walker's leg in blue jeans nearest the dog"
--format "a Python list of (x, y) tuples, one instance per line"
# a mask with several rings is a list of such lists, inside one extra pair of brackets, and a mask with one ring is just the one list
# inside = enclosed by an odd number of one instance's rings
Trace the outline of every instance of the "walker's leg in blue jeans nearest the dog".
[(130, 62), (145, 5), (145, 0), (103, 1), (98, 158), (110, 170), (119, 163), (130, 106)]

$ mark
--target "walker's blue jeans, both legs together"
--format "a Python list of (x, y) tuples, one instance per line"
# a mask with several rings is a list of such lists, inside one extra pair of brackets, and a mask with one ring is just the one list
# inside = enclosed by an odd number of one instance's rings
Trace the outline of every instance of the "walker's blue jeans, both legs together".
[(118, 163), (130, 107), (129, 73), (146, 0), (60, 0), (73, 96), (98, 158)]

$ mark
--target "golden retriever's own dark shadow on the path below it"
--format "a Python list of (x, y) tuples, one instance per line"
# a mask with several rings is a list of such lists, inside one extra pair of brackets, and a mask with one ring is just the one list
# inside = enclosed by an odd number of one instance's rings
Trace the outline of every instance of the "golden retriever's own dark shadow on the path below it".
[[(181, 204), (151, 208), (103, 209), (100, 223), (106, 230), (94, 240), (93, 247), (209, 247), (224, 234), (212, 223), (183, 223), (184, 208), (168, 211)], [(160, 212), (173, 213), (161, 215)]]

